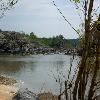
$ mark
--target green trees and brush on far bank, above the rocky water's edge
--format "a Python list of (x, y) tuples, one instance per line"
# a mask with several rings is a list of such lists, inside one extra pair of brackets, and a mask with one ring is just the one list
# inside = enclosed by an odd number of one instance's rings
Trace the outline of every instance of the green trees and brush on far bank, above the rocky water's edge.
[(68, 49), (79, 46), (78, 39), (65, 39), (63, 35), (51, 38), (40, 38), (33, 32), (2, 31), (0, 30), (0, 52), (25, 52), (36, 48)]

